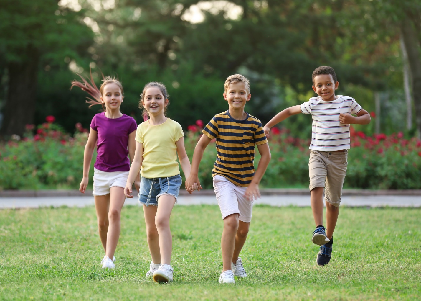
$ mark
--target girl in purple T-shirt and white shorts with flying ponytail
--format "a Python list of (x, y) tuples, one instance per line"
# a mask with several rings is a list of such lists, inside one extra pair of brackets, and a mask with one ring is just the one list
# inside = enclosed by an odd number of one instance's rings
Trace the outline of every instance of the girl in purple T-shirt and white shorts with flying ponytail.
[[(124, 96), (123, 86), (119, 81), (107, 76), (98, 90), (92, 75), (92, 84), (80, 77), (83, 83), (72, 81), (72, 87), (77, 86), (87, 91), (93, 97), (86, 101), (91, 104), (89, 107), (101, 104), (104, 112), (92, 118), (91, 131), (83, 154), (83, 178), (79, 190), (85, 193), (96, 146), (98, 155), (93, 167), (93, 195), (99, 237), (105, 250), (101, 264), (103, 269), (113, 269), (114, 252), (120, 237), (120, 212), (125, 201), (123, 190), (130, 169), (127, 155), (133, 159), (136, 121), (120, 112)], [(136, 187), (139, 187), (139, 180)]]

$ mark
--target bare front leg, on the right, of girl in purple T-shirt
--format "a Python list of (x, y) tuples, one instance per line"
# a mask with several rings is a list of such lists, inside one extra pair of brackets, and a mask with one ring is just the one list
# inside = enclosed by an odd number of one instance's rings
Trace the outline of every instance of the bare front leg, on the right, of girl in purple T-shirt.
[(126, 199), (123, 187), (111, 187), (109, 189), (109, 229), (107, 234), (107, 256), (112, 260), (120, 238), (120, 213)]

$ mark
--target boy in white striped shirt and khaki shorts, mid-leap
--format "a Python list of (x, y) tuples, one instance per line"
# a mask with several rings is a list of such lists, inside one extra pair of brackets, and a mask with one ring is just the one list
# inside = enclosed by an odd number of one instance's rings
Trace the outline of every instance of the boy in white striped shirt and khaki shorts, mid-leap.
[[(266, 137), (269, 137), (270, 128), (291, 115), (298, 113), (312, 115), (309, 189), (316, 223), (312, 242), (321, 246), (317, 254), (317, 264), (325, 266), (332, 255), (333, 231), (338, 220), (342, 186), (348, 164), (349, 124), (368, 124), (371, 118), (352, 97), (335, 95), (339, 83), (332, 67), (318, 67), (313, 72), (312, 80), (313, 90), (319, 96), (278, 113), (264, 126), (264, 132)], [(323, 226), (323, 188), (326, 188), (327, 228)]]

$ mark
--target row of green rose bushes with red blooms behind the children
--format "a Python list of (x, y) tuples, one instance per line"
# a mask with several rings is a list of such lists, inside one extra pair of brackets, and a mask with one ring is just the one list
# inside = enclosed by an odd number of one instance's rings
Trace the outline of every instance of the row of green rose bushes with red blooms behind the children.
[[(0, 144), (0, 189), (79, 188), (88, 130), (76, 124), (71, 137), (54, 124), (54, 120), (48, 116), (47, 123), (37, 129), (28, 125), (24, 137), (13, 136)], [(185, 133), (184, 143), (190, 159), (203, 125), (203, 121), (198, 120)], [(272, 128), (269, 138), (272, 160), (261, 187), (306, 187), (309, 142), (292, 137), (288, 130)], [(405, 139), (402, 133), (370, 137), (351, 127), (351, 143), (345, 188), (421, 189), (420, 140)], [(96, 152), (91, 163), (90, 186), (95, 156)], [(215, 141), (212, 141), (200, 162), (199, 178), (203, 188), (212, 188), (215, 159)], [(256, 166), (259, 159), (256, 150)]]

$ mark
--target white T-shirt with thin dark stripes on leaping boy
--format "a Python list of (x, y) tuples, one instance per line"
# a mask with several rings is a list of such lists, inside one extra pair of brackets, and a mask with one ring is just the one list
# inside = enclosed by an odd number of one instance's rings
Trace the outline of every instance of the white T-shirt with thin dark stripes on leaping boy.
[(349, 124), (341, 124), (339, 114), (357, 114), (362, 107), (352, 97), (336, 96), (338, 98), (332, 101), (312, 97), (301, 104), (301, 112), (313, 118), (311, 150), (340, 151), (351, 147)]

